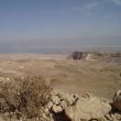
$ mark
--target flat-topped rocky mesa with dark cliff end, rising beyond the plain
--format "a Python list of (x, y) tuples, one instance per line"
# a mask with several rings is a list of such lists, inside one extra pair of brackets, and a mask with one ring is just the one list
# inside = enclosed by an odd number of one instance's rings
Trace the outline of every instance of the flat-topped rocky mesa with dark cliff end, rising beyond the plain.
[(80, 52), (75, 51), (69, 58), (74, 61), (96, 61), (121, 63), (121, 53)]

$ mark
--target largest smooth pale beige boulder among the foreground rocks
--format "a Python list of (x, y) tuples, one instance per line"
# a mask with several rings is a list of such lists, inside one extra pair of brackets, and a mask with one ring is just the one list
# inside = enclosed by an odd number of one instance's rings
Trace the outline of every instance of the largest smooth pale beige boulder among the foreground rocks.
[(111, 106), (101, 101), (97, 97), (79, 98), (75, 106), (65, 109), (66, 114), (73, 121), (80, 121), (81, 119), (91, 120), (99, 119), (109, 113)]

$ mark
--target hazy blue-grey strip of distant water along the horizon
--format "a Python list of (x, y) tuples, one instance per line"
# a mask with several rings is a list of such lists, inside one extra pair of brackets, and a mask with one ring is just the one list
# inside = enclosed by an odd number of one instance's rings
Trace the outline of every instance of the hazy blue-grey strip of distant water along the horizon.
[(74, 51), (88, 51), (88, 52), (120, 52), (121, 45), (80, 45), (70, 47), (40, 47), (34, 50), (0, 50), (0, 53), (43, 53), (43, 54), (67, 54)]

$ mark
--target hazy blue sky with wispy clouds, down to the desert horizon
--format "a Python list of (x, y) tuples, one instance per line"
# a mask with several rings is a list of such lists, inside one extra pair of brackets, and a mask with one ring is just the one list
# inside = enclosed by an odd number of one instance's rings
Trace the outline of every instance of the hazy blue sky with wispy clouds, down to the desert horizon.
[(121, 51), (121, 0), (0, 0), (0, 53)]

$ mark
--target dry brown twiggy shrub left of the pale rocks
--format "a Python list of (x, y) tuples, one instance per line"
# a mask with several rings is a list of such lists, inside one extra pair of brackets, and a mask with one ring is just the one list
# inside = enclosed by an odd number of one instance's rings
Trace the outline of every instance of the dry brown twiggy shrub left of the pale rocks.
[(51, 88), (41, 76), (11, 78), (0, 84), (0, 112), (13, 113), (16, 119), (42, 118), (51, 99)]

